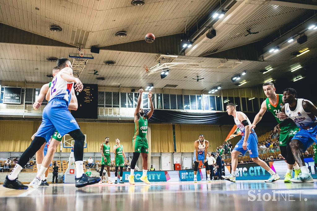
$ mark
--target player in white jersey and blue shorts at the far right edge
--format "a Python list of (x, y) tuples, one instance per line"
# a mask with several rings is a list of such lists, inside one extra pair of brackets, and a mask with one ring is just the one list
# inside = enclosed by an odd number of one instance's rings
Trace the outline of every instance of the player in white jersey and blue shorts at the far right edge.
[(283, 91), (285, 105), (281, 110), (286, 114), (288, 119), (276, 125), (274, 131), (280, 131), (281, 126), (288, 124), (288, 122), (292, 120), (300, 128), (300, 131), (292, 138), (289, 146), (291, 147), (296, 162), (301, 168), (301, 174), (291, 179), (291, 182), (309, 183), (314, 182), (314, 180), (304, 163), (302, 152), (305, 152), (314, 142), (317, 143), (317, 108), (309, 100), (297, 99), (296, 97), (297, 92), (292, 88), (287, 88)]

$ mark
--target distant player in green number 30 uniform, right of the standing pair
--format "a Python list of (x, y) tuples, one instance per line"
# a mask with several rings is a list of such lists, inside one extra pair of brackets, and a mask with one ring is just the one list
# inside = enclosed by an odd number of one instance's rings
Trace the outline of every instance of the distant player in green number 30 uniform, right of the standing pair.
[[(118, 177), (119, 183), (124, 183), (122, 182), (122, 176), (123, 176), (123, 167), (126, 164), (126, 154), (124, 153), (123, 145), (120, 144), (119, 138), (116, 138), (116, 145), (113, 146), (113, 153), (114, 153), (114, 163), (115, 163), (115, 170), (116, 170), (114, 172), (114, 176)], [(120, 167), (120, 176), (118, 176), (119, 167)], [(115, 184), (118, 183), (117, 179), (114, 183)]]

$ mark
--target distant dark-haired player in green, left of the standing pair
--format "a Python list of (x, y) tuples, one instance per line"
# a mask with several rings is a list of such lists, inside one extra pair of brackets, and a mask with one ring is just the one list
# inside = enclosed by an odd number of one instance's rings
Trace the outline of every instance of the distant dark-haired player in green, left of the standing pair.
[(101, 153), (101, 170), (99, 173), (100, 182), (101, 183), (101, 176), (105, 165), (107, 166), (107, 174), (108, 174), (108, 184), (112, 184), (110, 179), (110, 166), (111, 166), (111, 156), (110, 156), (110, 144), (109, 144), (109, 137), (105, 138), (105, 143), (100, 144), (100, 153)]

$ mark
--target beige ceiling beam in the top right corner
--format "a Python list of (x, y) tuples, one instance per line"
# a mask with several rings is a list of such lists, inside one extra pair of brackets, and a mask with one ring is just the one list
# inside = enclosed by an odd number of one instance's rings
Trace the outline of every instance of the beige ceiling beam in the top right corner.
[(285, 7), (296, 7), (308, 10), (317, 10), (317, 2), (313, 1), (300, 1), (300, 0), (271, 0), (267, 1), (266, 4), (279, 5)]

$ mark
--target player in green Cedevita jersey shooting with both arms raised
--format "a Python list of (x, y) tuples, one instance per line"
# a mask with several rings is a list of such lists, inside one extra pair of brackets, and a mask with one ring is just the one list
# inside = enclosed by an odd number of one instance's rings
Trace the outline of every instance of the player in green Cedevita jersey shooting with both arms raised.
[(147, 120), (151, 118), (154, 106), (152, 102), (152, 92), (149, 91), (148, 100), (150, 102), (151, 110), (145, 115), (144, 110), (141, 108), (142, 102), (142, 93), (143, 89), (139, 89), (139, 97), (138, 103), (135, 108), (134, 112), (134, 136), (133, 136), (133, 158), (131, 161), (131, 172), (129, 176), (129, 183), (134, 185), (134, 168), (139, 159), (140, 153), (142, 155), (142, 167), (143, 167), (143, 174), (140, 178), (141, 181), (145, 182), (146, 184), (151, 184), (147, 179), (147, 154), (149, 153), (149, 145), (146, 140), (146, 133), (147, 133)]

